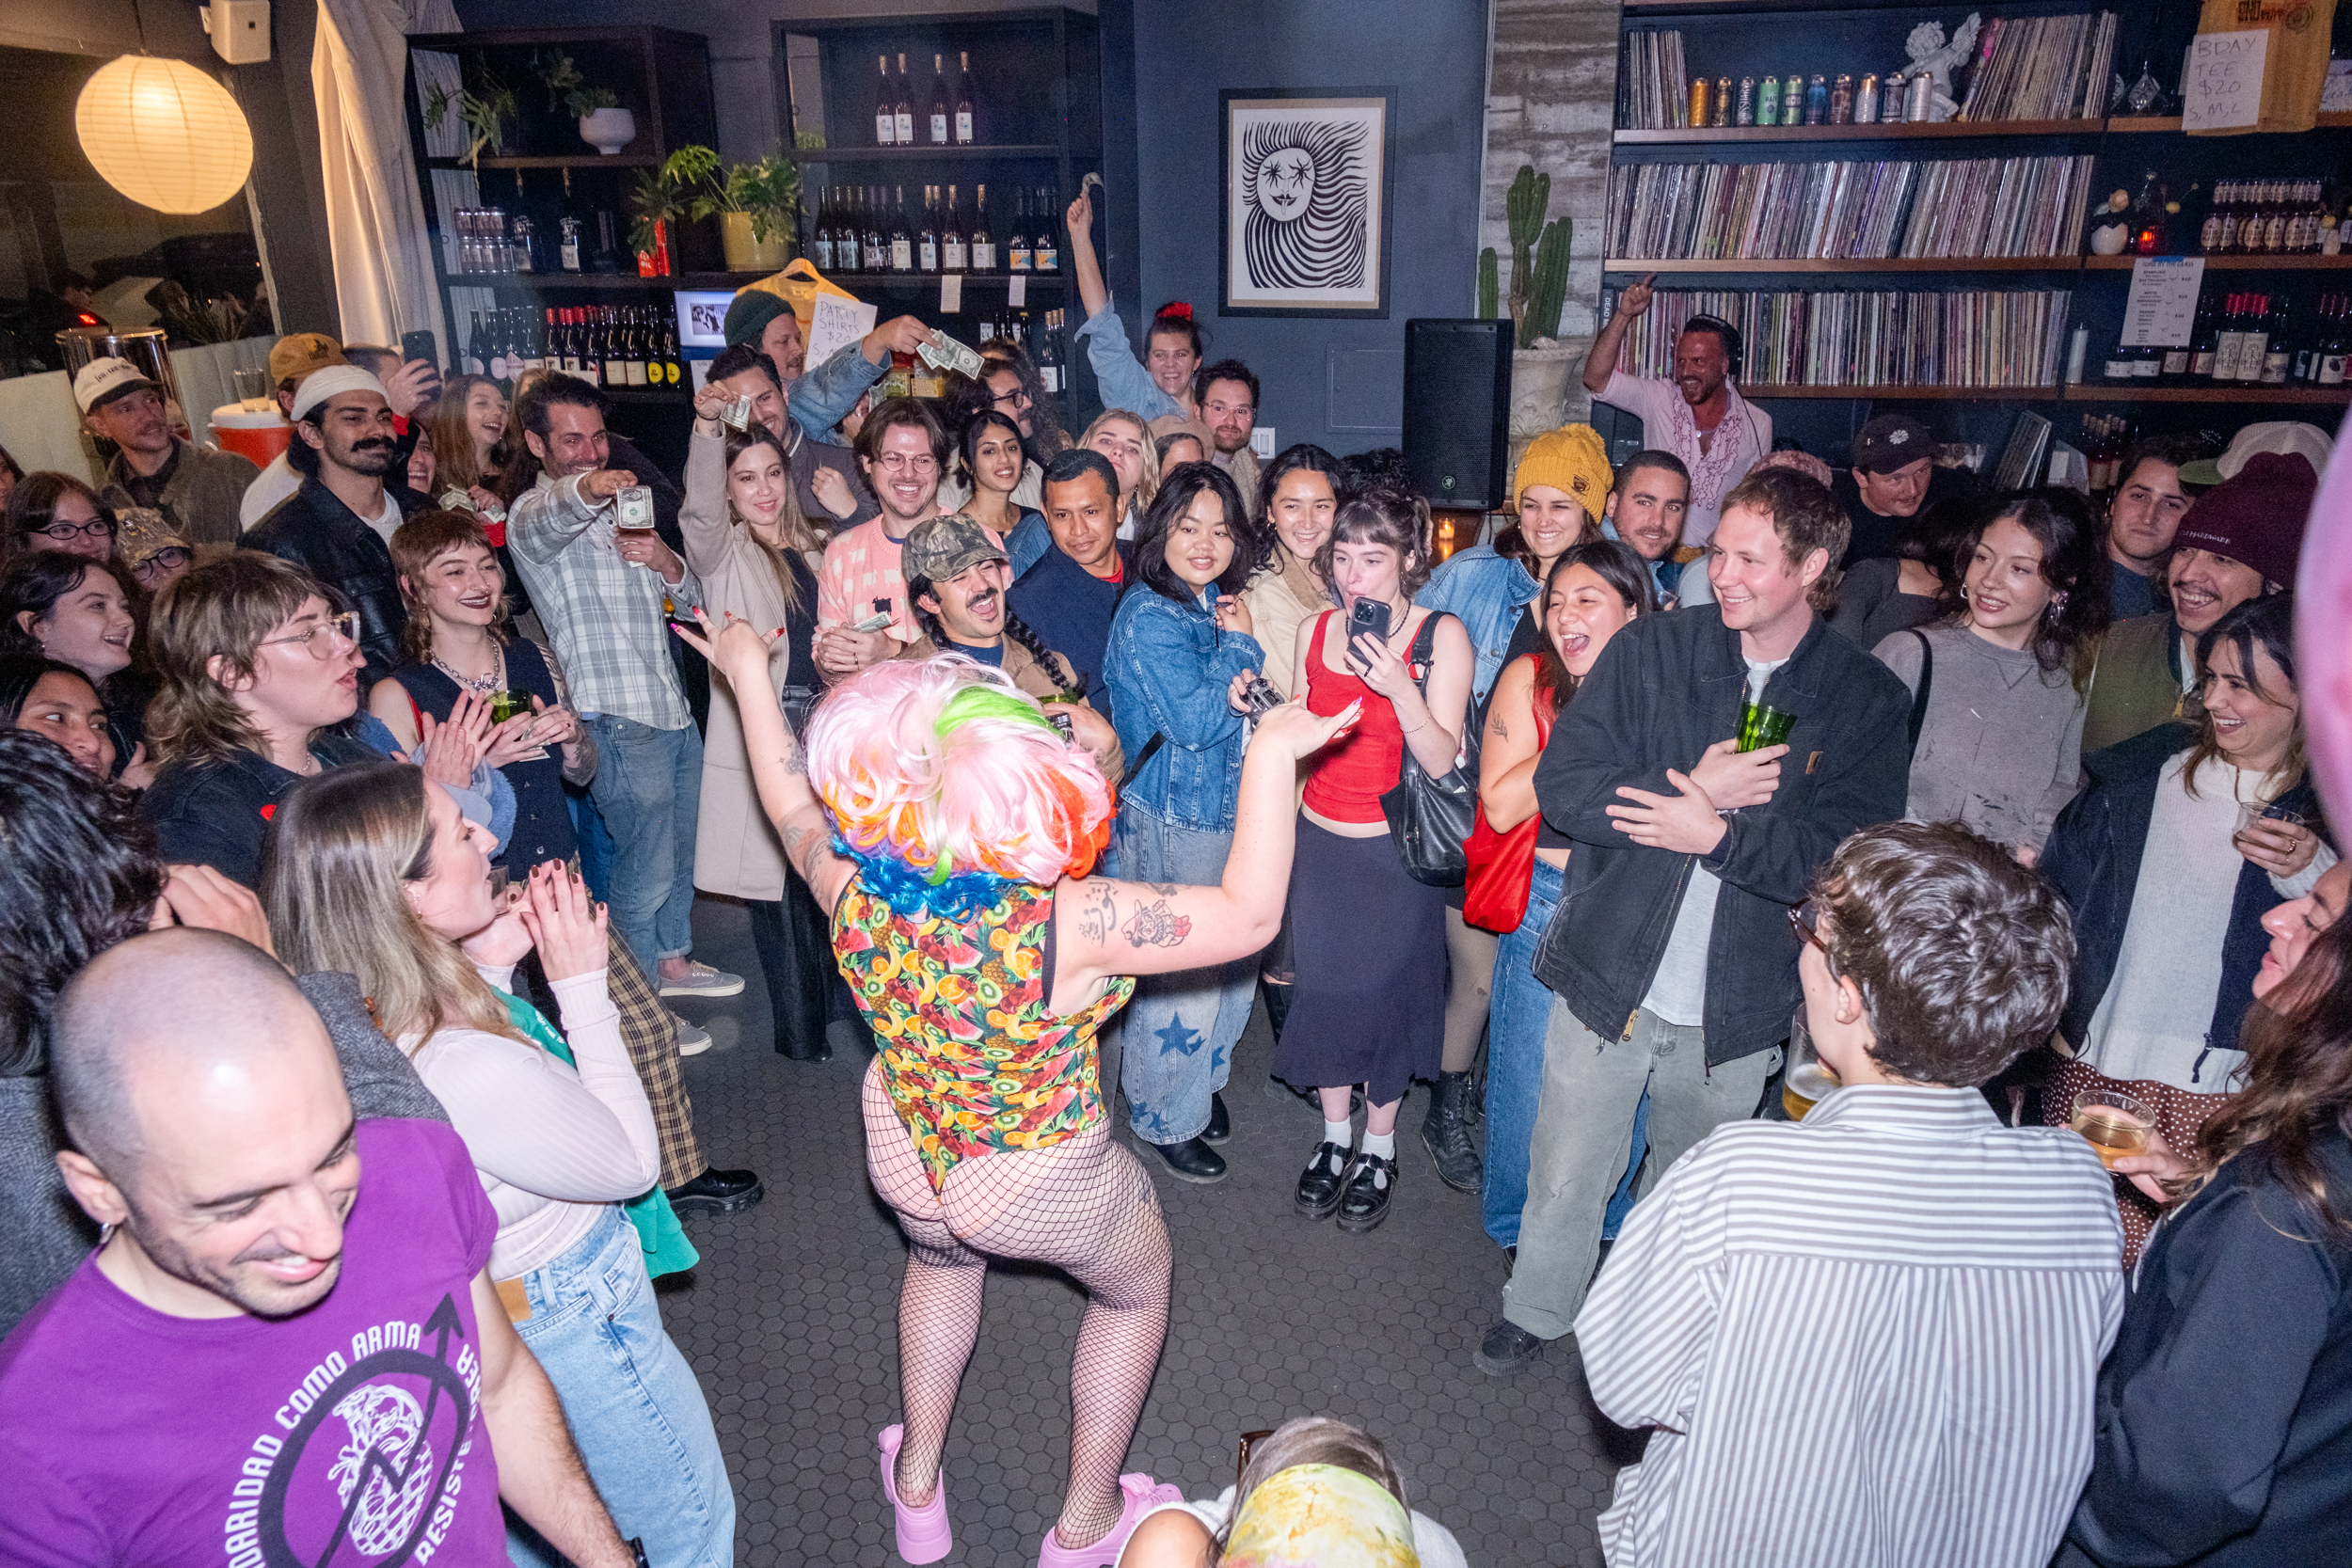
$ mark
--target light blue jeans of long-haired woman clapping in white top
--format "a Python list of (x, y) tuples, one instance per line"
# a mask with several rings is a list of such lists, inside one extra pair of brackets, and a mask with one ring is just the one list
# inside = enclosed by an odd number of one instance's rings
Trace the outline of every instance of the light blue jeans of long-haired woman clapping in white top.
[[(588, 1479), (621, 1540), (663, 1568), (734, 1563), (734, 1486), (694, 1368), (670, 1345), (644, 1276), (637, 1227), (604, 1208), (562, 1258), (522, 1276), (532, 1316), (515, 1333), (562, 1399)], [(553, 1568), (562, 1556), (508, 1516), (506, 1556)]]

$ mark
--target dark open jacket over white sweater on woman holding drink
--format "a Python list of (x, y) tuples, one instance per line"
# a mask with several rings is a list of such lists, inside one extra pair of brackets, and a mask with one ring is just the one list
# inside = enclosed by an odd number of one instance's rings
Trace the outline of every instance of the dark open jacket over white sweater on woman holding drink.
[[(2145, 736), (2084, 757), (2082, 790), (2058, 813), (2058, 825), (2042, 849), (2042, 875), (2074, 914), (2074, 973), (2067, 978), (2065, 1013), (2058, 1018), (2058, 1027), (2074, 1044), (2091, 1032), (2091, 1016), (2107, 994), (2124, 952), (2124, 924), (2140, 891), (2140, 856), (2157, 809), (2157, 778), (2166, 762), (2194, 743), (2197, 731), (2190, 724), (2159, 724)], [(2281, 795), (2279, 804), (2307, 820), (2319, 818), (2319, 797), (2310, 778)], [(2161, 891), (2154, 889), (2159, 896)], [(2220, 994), (2206, 1025), (2209, 1051), (2216, 1046), (2237, 1051), (2237, 1027), (2253, 1004), (2253, 976), (2270, 947), (2263, 917), (2281, 903), (2286, 900), (2270, 886), (2270, 872), (2246, 860), (2237, 872), (2230, 926), (2220, 938)], [(2201, 1088), (2223, 1093), (2220, 1084)]]

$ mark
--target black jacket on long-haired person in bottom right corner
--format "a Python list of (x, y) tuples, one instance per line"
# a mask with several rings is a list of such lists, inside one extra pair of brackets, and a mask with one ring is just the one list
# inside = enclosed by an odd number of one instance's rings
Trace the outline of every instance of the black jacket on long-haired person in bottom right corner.
[[(2352, 1143), (2317, 1143), (2352, 1211)], [(2060, 1568), (2352, 1563), (2352, 1241), (2249, 1154), (2147, 1244)]]

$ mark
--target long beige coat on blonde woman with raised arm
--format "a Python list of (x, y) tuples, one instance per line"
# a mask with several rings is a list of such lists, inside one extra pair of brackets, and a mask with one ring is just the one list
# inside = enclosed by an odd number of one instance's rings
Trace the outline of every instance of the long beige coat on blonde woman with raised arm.
[[(809, 578), (800, 609), (788, 611), (767, 545), (727, 512), (727, 444), (694, 435), (687, 447), (687, 498), (677, 527), (687, 536), (687, 569), (703, 585), (703, 609), (722, 623), (727, 611), (762, 632), (786, 621), (816, 621), (816, 581)], [(790, 670), (788, 639), (767, 661), (769, 684), (781, 693)], [(783, 898), (783, 842), (760, 806), (743, 750), (743, 717), (727, 679), (710, 682), (710, 724), (703, 731), (703, 806), (694, 823), (694, 886), (729, 898)]]

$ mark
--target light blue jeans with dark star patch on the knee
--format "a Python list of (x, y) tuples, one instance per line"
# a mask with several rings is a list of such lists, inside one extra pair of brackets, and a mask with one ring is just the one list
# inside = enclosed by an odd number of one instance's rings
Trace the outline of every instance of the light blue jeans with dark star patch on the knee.
[[(1141, 806), (1120, 809), (1120, 875), (1131, 882), (1225, 879), (1230, 832), (1178, 827)], [(1122, 1023), (1120, 1088), (1127, 1126), (1143, 1143), (1183, 1143), (1209, 1126), (1209, 1095), (1232, 1077), (1232, 1046), (1256, 999), (1251, 959), (1143, 976)]]

